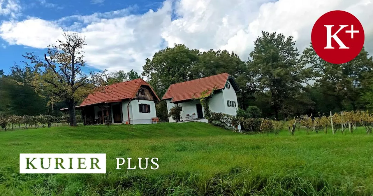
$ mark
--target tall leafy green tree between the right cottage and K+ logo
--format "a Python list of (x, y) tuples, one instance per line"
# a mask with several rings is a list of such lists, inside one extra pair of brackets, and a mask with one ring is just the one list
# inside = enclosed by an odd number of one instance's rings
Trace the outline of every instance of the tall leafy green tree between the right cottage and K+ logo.
[(254, 41), (254, 50), (247, 61), (253, 75), (251, 83), (257, 85), (259, 93), (265, 93), (264, 100), (272, 106), (275, 118), (286, 109), (286, 101), (300, 92), (307, 71), (298, 64), (298, 49), (293, 37), (276, 32), (262, 32)]

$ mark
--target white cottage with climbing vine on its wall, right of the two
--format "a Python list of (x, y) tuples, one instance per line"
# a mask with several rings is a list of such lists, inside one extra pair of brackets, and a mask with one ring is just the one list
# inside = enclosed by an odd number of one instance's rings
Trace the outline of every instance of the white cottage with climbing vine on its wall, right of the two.
[[(211, 112), (222, 112), (236, 116), (237, 112), (237, 94), (238, 85), (234, 78), (227, 74), (218, 74), (197, 80), (186, 81), (183, 83), (172, 84), (162, 97), (167, 101), (167, 110), (176, 104), (181, 107), (181, 122), (200, 121), (207, 122), (204, 118), (204, 109), (198, 100), (201, 94), (210, 94)], [(169, 117), (170, 122), (175, 122)]]

